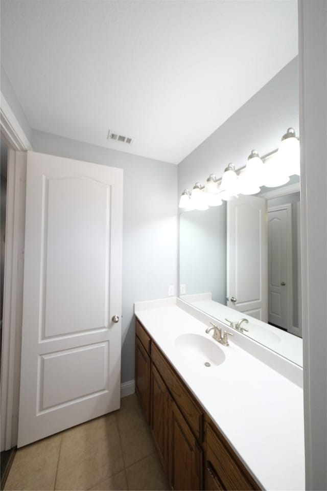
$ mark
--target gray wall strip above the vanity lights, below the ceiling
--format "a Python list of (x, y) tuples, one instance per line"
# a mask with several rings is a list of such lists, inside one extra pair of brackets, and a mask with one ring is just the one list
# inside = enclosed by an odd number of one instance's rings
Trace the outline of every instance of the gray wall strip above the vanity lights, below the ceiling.
[(178, 193), (220, 177), (229, 162), (243, 167), (252, 149), (276, 149), (289, 126), (298, 135), (298, 98), (296, 57), (178, 165)]

